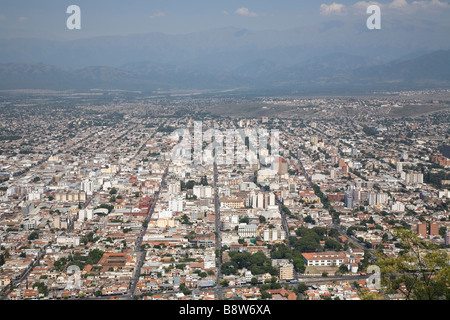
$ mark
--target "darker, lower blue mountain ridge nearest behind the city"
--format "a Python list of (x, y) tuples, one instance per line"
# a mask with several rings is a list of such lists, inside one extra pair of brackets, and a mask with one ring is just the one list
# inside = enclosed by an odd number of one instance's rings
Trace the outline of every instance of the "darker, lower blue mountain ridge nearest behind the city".
[[(241, 35), (242, 36), (242, 35)], [(224, 60), (225, 57), (224, 57)], [(450, 87), (450, 50), (381, 63), (332, 53), (286, 66), (254, 57), (238, 66), (176, 65), (150, 61), (63, 68), (44, 63), (0, 63), (0, 89), (88, 90), (229, 89), (371, 91)]]

